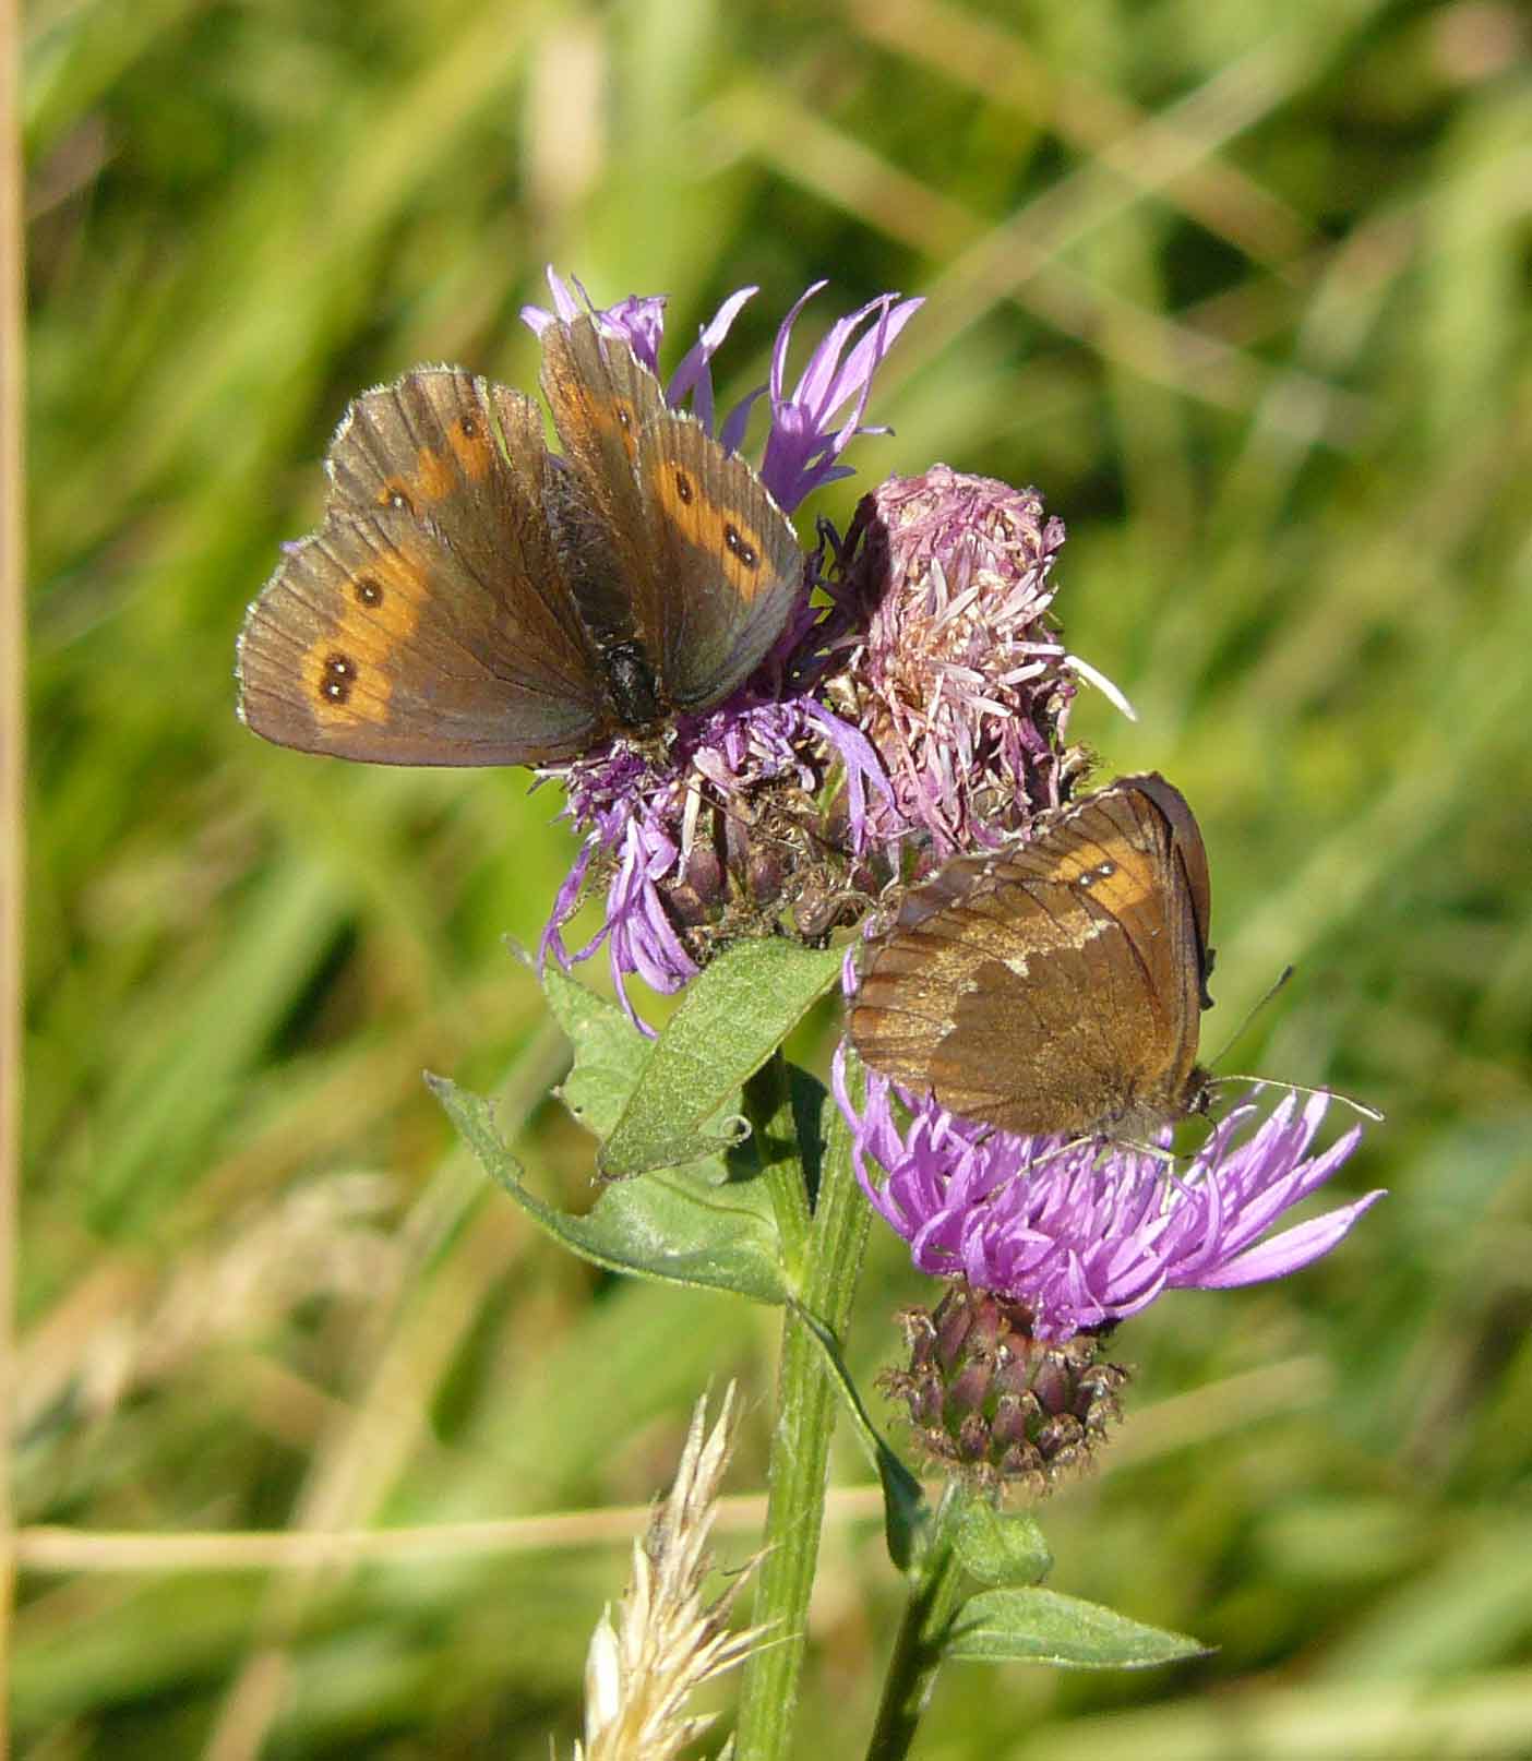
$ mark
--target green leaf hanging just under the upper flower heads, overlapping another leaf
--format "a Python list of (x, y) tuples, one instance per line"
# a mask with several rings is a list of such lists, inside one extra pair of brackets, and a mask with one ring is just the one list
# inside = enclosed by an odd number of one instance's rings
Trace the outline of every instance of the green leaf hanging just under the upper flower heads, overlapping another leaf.
[[(725, 1108), (840, 974), (835, 949), (785, 940), (731, 947), (687, 988), (650, 1048), (637, 1088), (600, 1146), (613, 1180), (674, 1168), (738, 1141), (720, 1136)], [(704, 1131), (711, 1122), (711, 1132)]]

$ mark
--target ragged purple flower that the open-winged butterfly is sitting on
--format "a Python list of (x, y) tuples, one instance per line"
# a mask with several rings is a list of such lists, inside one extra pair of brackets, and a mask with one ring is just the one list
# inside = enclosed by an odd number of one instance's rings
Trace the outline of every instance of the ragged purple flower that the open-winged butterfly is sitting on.
[[(660, 377), (660, 298), (630, 296), (597, 310), (578, 284), (571, 289), (553, 271), (548, 282), (553, 312), (523, 308), (532, 329), (542, 335), (549, 324), (592, 312), (604, 333), (627, 342)], [(710, 433), (710, 361), (754, 292), (747, 287), (724, 301), (664, 382), (667, 403), (689, 407)], [(814, 292), (817, 287), (782, 322), (764, 387), (770, 423), (759, 475), (785, 512), (819, 484), (847, 474), (838, 458), (856, 433), (879, 431), (861, 426), (872, 377), (921, 305), (884, 294), (838, 321), (789, 389), (792, 326)], [(724, 447), (740, 449), (759, 396), (745, 398), (717, 426)], [(657, 991), (674, 991), (720, 937), (766, 933), (784, 909), (812, 925), (805, 933), (822, 933), (843, 896), (826, 858), (854, 858), (866, 840), (868, 814), (888, 791), (866, 738), (812, 696), (824, 667), (828, 611), (810, 597), (810, 576), (761, 667), (727, 703), (676, 717), (662, 745), (616, 740), (549, 771), (569, 794), (567, 817), (585, 833), (585, 845), (558, 891), (542, 954), (569, 965), (606, 946), (618, 995), (636, 1023), (625, 983), (632, 976)], [(831, 771), (840, 805), (828, 836), (819, 798)], [(604, 891), (604, 921), (571, 951), (563, 930), (592, 889)]]

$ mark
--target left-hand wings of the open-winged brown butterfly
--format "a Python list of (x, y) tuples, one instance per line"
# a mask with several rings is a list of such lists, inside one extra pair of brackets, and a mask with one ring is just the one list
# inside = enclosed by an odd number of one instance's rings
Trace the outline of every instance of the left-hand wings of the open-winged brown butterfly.
[(537, 407), (453, 368), (357, 398), (322, 528), (239, 637), (239, 713), (377, 764), (544, 764), (608, 729), (544, 512)]

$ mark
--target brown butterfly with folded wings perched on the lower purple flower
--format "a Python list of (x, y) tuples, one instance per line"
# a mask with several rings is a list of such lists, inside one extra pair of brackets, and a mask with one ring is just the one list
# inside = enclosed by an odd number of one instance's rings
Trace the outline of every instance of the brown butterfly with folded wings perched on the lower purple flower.
[(1134, 1138), (1201, 1111), (1208, 856), (1164, 777), (963, 856), (875, 944), (851, 1039), (884, 1076), (1021, 1134)]

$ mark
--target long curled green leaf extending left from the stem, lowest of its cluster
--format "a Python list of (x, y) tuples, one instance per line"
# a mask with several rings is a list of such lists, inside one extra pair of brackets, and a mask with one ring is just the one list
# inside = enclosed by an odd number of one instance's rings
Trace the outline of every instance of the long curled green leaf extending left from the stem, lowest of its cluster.
[(777, 1229), (759, 1182), (710, 1185), (703, 1171), (680, 1169), (609, 1187), (588, 1215), (576, 1217), (528, 1190), (519, 1162), (500, 1141), (490, 1101), (444, 1076), (426, 1074), (426, 1083), (490, 1178), (571, 1252), (662, 1284), (787, 1301)]

